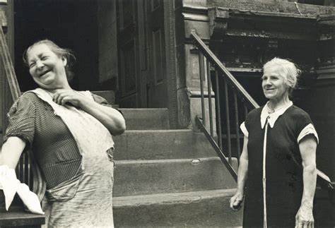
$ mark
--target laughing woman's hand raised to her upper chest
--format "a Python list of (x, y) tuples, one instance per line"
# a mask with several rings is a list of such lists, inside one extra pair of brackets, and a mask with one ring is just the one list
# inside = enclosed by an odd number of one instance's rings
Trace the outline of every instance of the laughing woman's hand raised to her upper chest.
[(79, 92), (74, 90), (60, 89), (56, 90), (52, 96), (52, 100), (60, 105), (66, 103), (72, 104), (74, 107), (81, 107), (82, 100), (87, 99), (85, 96), (81, 95)]

